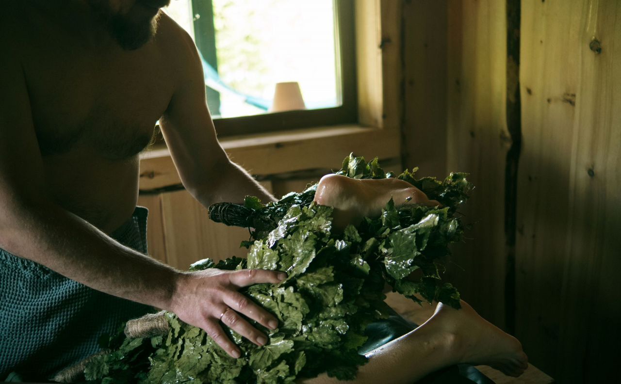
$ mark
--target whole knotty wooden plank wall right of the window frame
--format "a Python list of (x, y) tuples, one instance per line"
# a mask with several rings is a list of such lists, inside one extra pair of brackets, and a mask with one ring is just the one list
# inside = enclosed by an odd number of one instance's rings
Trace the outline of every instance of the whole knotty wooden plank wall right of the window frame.
[[(406, 165), (470, 172), (476, 185), (463, 210), (471, 239), (455, 248), (465, 270), (453, 267), (450, 279), (492, 323), (515, 324), (531, 362), (558, 382), (609, 382), (621, 342), (621, 2), (521, 1), (513, 250), (507, 1), (402, 4)], [(513, 251), (515, 295), (506, 300)]]

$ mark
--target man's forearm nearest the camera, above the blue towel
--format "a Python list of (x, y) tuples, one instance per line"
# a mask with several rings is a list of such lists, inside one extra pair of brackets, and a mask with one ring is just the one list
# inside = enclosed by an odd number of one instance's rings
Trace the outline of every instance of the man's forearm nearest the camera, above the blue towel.
[(101, 292), (170, 309), (180, 272), (122, 246), (58, 205), (25, 205), (4, 220), (0, 248)]

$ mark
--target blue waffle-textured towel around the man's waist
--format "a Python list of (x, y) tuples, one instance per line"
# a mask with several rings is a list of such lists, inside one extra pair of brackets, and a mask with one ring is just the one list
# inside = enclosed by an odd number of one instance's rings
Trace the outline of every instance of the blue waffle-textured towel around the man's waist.
[[(136, 207), (111, 237), (146, 254), (147, 214)], [(102, 334), (151, 310), (0, 249), (0, 380), (9, 372), (45, 380), (99, 351)]]

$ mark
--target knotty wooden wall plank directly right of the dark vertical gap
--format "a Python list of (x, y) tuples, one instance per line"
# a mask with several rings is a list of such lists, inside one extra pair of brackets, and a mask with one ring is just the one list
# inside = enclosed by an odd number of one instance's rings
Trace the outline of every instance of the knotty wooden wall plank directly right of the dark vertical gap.
[[(573, 42), (578, 29), (571, 24), (582, 14), (582, 9), (566, 5), (525, 1), (522, 7), (520, 78), (526, 92), (522, 92), (516, 258), (517, 336), (530, 361), (559, 379), (554, 355), (562, 321), (561, 266), (569, 219), (566, 190), (572, 134), (567, 130), (575, 114), (574, 106), (563, 100), (565, 94), (576, 94), (579, 52)], [(554, 21), (548, 12), (558, 12)], [(545, 300), (537, 298), (542, 292)]]

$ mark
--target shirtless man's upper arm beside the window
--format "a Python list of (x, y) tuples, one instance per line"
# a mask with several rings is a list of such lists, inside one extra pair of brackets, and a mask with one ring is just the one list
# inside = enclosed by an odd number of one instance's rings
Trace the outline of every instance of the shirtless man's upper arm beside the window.
[(161, 130), (181, 181), (186, 187), (198, 187), (214, 182), (215, 169), (227, 164), (229, 158), (217, 141), (207, 109), (196, 45), (173, 20), (163, 17), (162, 22), (162, 33), (170, 33), (176, 39), (175, 65), (179, 66), (180, 75), (168, 110), (160, 120)]

